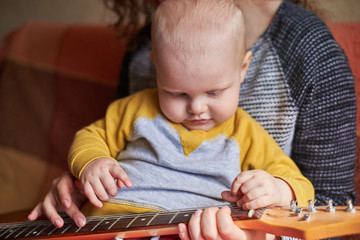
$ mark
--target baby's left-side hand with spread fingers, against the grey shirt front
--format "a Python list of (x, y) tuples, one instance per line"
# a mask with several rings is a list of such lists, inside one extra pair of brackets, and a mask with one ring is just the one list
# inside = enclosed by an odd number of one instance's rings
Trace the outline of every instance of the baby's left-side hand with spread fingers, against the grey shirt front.
[[(115, 183), (117, 179), (117, 183)], [(116, 196), (117, 187), (132, 187), (132, 182), (119, 164), (110, 158), (99, 158), (89, 163), (83, 170), (80, 181), (89, 201), (96, 207), (102, 207), (102, 201)], [(116, 186), (117, 185), (117, 186)], [(99, 200), (100, 199), (100, 200)]]

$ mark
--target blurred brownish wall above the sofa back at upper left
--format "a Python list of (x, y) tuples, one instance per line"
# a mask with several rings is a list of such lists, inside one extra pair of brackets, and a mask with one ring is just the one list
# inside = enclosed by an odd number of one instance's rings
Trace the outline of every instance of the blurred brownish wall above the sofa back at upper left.
[(0, 0), (0, 41), (27, 21), (111, 23), (103, 0)]

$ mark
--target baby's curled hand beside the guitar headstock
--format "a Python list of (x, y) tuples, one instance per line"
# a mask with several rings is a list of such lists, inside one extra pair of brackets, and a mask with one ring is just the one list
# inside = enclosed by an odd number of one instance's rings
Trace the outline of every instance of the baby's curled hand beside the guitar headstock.
[(256, 209), (273, 204), (289, 204), (293, 199), (290, 186), (264, 170), (255, 169), (240, 173), (231, 191), (222, 192), (225, 201), (244, 209)]

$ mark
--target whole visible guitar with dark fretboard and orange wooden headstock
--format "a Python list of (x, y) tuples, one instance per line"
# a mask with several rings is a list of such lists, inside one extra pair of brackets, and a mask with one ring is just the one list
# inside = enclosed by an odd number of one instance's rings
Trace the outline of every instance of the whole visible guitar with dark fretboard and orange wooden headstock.
[[(360, 233), (360, 207), (317, 207), (293, 209), (274, 206), (245, 211), (230, 206), (236, 225), (278, 236), (319, 239)], [(334, 211), (332, 211), (334, 210)], [(177, 224), (188, 222), (194, 209), (88, 217), (79, 228), (65, 219), (62, 228), (48, 220), (0, 224), (0, 239), (113, 239), (177, 234)]]

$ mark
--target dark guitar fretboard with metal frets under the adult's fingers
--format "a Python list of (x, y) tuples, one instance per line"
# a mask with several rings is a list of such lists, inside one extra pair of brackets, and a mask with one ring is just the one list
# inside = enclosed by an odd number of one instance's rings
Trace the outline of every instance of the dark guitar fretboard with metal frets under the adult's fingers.
[[(254, 216), (248, 211), (231, 206), (234, 219), (260, 218), (263, 210), (257, 210)], [(0, 224), (0, 239), (53, 238), (74, 234), (97, 234), (103, 232), (121, 232), (160, 225), (187, 223), (195, 209), (148, 212), (143, 214), (123, 214), (88, 217), (87, 224), (79, 228), (71, 219), (64, 219), (64, 226), (56, 228), (50, 221), (34, 221), (14, 224)]]

